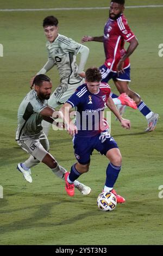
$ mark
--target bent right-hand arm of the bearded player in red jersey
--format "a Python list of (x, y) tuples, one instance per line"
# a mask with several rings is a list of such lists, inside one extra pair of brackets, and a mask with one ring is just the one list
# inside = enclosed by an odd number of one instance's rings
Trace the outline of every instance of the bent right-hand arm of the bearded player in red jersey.
[(126, 54), (123, 55), (123, 57), (120, 59), (120, 61), (117, 64), (117, 72), (124, 73), (123, 65), (124, 60), (126, 60), (136, 49), (137, 45), (139, 45), (139, 42), (134, 37), (129, 41), (129, 47), (127, 48)]

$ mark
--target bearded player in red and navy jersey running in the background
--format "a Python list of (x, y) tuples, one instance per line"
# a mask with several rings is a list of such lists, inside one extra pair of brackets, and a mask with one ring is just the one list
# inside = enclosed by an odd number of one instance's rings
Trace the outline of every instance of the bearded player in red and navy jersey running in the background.
[[(126, 93), (136, 102), (139, 111), (146, 117), (148, 127), (146, 131), (153, 131), (159, 115), (153, 113), (139, 94), (129, 88), (130, 62), (129, 56), (135, 51), (138, 42), (131, 31), (126, 17), (123, 15), (124, 0), (111, 0), (109, 19), (105, 23), (103, 36), (83, 36), (82, 42), (97, 41), (103, 42), (105, 51), (105, 63), (99, 69), (102, 74), (102, 82), (108, 82), (111, 78), (117, 90), (122, 94)], [(129, 42), (127, 51), (124, 43)], [(112, 94), (112, 98), (117, 95)]]

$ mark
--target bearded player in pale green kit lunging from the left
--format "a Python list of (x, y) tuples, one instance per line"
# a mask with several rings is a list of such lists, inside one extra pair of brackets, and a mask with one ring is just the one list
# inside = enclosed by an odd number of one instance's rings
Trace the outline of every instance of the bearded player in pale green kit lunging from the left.
[[(18, 126), (16, 141), (27, 153), (29, 158), (23, 163), (18, 163), (17, 169), (23, 174), (28, 182), (32, 182), (30, 168), (42, 162), (60, 179), (64, 179), (65, 168), (61, 167), (57, 160), (48, 153), (49, 143), (45, 133), (42, 131), (42, 119), (53, 123), (54, 109), (47, 105), (51, 95), (52, 82), (46, 75), (37, 75), (33, 81), (34, 89), (24, 97), (18, 108)], [(56, 122), (55, 122), (56, 123)], [(90, 187), (80, 182), (74, 184), (82, 194), (89, 194)]]

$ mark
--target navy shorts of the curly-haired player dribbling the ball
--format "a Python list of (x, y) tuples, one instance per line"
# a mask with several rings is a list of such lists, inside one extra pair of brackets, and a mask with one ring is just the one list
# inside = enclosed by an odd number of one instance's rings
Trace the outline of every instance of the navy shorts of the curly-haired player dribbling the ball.
[(90, 138), (74, 136), (73, 148), (78, 162), (86, 164), (90, 162), (90, 156), (94, 149), (102, 155), (106, 155), (108, 150), (118, 148), (118, 145), (110, 135), (101, 136), (101, 133), (99, 133), (99, 135)]

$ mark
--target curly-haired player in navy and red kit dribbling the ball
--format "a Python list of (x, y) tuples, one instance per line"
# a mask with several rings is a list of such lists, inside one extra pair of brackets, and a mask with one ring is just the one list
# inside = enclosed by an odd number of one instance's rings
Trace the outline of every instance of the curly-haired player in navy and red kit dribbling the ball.
[[(101, 82), (101, 71), (98, 68), (89, 68), (85, 74), (86, 83), (79, 86), (60, 109), (67, 131), (74, 136), (74, 155), (77, 159), (77, 163), (71, 167), (70, 174), (68, 172), (65, 174), (65, 188), (69, 196), (74, 195), (74, 181), (89, 170), (90, 155), (96, 149), (110, 160), (106, 168), (104, 192), (111, 191), (115, 194), (118, 203), (124, 203), (125, 199), (113, 189), (121, 170), (122, 156), (114, 138), (103, 125), (105, 104), (116, 115), (122, 127), (130, 129), (130, 121), (123, 119), (118, 112), (110, 97), (109, 85)], [(77, 107), (75, 125), (69, 117), (73, 107)]]

